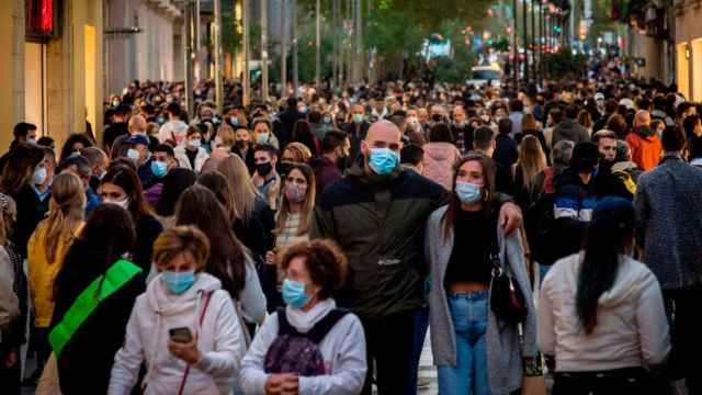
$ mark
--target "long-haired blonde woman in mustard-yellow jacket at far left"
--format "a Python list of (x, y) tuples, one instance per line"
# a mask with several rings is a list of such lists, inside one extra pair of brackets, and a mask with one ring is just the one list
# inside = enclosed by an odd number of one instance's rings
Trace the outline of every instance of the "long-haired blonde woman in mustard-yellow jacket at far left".
[(50, 353), (48, 329), (55, 306), (54, 281), (64, 264), (64, 255), (83, 227), (84, 212), (82, 181), (73, 173), (58, 174), (52, 185), (48, 217), (39, 223), (27, 244), (29, 285), (39, 366)]

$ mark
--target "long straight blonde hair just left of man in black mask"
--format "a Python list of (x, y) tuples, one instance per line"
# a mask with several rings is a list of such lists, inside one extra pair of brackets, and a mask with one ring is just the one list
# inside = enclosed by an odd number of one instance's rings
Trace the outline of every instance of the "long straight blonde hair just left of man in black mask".
[(230, 155), (222, 159), (217, 165), (217, 170), (229, 181), (238, 218), (248, 222), (256, 208), (256, 198), (259, 193), (251, 182), (251, 176), (249, 176), (244, 160), (237, 155)]

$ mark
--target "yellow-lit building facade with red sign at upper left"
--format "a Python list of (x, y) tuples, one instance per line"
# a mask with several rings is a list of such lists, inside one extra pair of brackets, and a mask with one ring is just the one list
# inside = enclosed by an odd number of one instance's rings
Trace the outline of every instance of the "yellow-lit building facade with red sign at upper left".
[(25, 121), (60, 146), (101, 131), (102, 1), (0, 1), (0, 151)]

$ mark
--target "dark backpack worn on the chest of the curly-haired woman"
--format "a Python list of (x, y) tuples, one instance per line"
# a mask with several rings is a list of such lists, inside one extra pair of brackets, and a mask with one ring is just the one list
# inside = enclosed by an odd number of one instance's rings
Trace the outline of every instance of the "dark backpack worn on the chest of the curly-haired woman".
[(285, 308), (279, 307), (278, 337), (265, 353), (265, 373), (293, 373), (303, 377), (328, 374), (319, 343), (349, 313), (347, 309), (332, 309), (307, 334), (301, 334), (287, 321)]

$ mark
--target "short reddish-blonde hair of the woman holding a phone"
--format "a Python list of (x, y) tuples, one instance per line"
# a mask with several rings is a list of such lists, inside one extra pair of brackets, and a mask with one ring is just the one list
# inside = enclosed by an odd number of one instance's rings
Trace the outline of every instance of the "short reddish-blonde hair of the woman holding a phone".
[(195, 226), (176, 226), (166, 229), (154, 241), (154, 261), (159, 269), (184, 252), (193, 256), (195, 272), (205, 269), (210, 258), (210, 239)]

